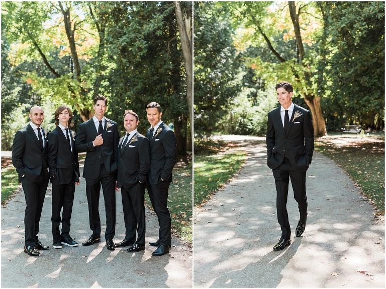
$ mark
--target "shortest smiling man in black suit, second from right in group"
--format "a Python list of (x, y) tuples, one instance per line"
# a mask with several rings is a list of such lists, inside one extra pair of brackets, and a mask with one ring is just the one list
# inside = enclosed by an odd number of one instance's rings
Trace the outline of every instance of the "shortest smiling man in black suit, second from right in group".
[[(119, 140), (116, 190), (122, 188), (122, 206), (126, 235), (116, 246), (130, 245), (127, 251), (145, 250), (145, 182), (150, 169), (149, 140), (138, 133), (138, 115), (124, 114), (126, 135)], [(138, 232), (137, 241), (135, 239)]]

